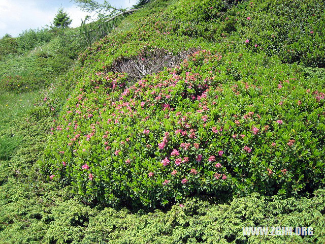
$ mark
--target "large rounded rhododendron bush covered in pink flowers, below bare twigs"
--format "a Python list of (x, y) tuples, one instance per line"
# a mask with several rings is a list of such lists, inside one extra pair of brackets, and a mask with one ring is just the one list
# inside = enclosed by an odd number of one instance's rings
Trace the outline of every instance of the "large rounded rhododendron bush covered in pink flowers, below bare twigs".
[(127, 74), (92, 73), (52, 128), (44, 170), (111, 205), (315, 190), (325, 174), (324, 89), (297, 66), (263, 62), (201, 50), (130, 87)]

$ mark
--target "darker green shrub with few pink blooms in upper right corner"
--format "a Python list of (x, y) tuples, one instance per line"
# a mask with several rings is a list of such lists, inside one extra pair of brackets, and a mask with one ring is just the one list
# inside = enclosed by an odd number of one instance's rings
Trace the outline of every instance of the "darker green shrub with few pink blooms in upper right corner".
[(236, 16), (235, 42), (253, 52), (262, 49), (270, 56), (278, 55), (283, 63), (325, 67), (323, 1), (258, 0), (244, 5), (245, 10)]

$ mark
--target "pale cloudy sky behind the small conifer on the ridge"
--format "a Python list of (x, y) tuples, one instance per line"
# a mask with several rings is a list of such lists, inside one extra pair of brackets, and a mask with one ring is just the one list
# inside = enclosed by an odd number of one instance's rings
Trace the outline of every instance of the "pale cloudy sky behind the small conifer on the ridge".
[[(130, 8), (137, 2), (138, 0), (109, 0), (116, 8)], [(0, 0), (0, 38), (7, 33), (18, 37), (19, 33), (26, 29), (50, 25), (60, 7), (63, 7), (72, 19), (71, 27), (79, 26), (81, 19), (87, 15), (70, 0)]]

